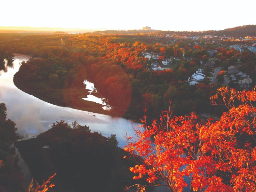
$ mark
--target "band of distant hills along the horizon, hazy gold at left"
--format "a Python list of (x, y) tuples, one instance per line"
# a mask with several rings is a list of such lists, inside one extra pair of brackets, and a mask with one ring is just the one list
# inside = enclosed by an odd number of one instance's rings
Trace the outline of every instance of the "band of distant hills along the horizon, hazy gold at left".
[[(150, 33), (160, 30), (106, 30), (106, 29), (83, 29), (83, 28), (51, 28), (51, 27), (0, 27), (0, 33), (88, 33), (94, 32), (95, 34), (136, 34), (136, 33)], [(175, 31), (171, 31), (176, 33)], [(177, 32), (177, 33), (189, 33)], [(223, 30), (208, 30), (197, 32), (202, 33), (202, 35), (215, 35), (215, 36), (256, 36), (256, 25), (244, 25), (234, 28), (227, 28)]]

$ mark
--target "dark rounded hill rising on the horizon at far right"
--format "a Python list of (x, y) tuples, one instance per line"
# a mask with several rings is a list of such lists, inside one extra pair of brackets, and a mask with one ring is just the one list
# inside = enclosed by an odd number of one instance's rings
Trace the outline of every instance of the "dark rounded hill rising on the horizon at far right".
[(219, 31), (210, 30), (204, 33), (217, 36), (256, 36), (256, 25), (244, 25)]

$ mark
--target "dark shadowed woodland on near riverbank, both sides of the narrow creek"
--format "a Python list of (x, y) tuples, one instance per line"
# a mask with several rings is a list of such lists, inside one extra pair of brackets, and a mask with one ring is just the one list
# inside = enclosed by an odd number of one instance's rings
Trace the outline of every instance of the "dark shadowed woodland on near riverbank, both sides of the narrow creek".
[(56, 173), (51, 191), (124, 191), (126, 184), (134, 184), (129, 167), (135, 164), (123, 158), (127, 152), (118, 148), (115, 135), (107, 138), (76, 121), (72, 126), (60, 121), (36, 138), (17, 142), (17, 128), (6, 119), (6, 110), (1, 103), (0, 191), (28, 191), (13, 143), (38, 183)]

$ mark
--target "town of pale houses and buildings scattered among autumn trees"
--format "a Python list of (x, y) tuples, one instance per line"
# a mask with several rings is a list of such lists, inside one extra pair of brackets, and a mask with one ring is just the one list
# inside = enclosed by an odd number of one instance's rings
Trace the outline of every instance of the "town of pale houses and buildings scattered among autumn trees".
[[(142, 30), (152, 31), (151, 27), (143, 27)], [(206, 51), (205, 59), (204, 56), (200, 59), (200, 67), (196, 69), (191, 77), (188, 77), (188, 84), (195, 85), (199, 83), (208, 82), (231, 87), (240, 87), (242, 89), (250, 89), (253, 85), (253, 80), (249, 75), (241, 71), (243, 62), (241, 61), (242, 54), (237, 54), (238, 58), (226, 58), (220, 53), (220, 47), (227, 47), (227, 51), (236, 53), (242, 52), (254, 52), (256, 53), (256, 37), (245, 36), (245, 37), (232, 37), (232, 36), (189, 36), (189, 35), (174, 35), (165, 34), (166, 44), (162, 44), (163, 47), (166, 45), (173, 45), (178, 43), (180, 39), (189, 42), (189, 45), (194, 44), (195, 49), (204, 49)], [(190, 40), (189, 40), (190, 39)], [(181, 61), (194, 63), (193, 56), (189, 55), (185, 50), (182, 55), (168, 57), (164, 52), (143, 52), (143, 57), (147, 58), (150, 62), (149, 70), (162, 71), (172, 70), (175, 65), (181, 63)], [(222, 76), (222, 77), (220, 77)], [(255, 82), (254, 82), (255, 83)]]

